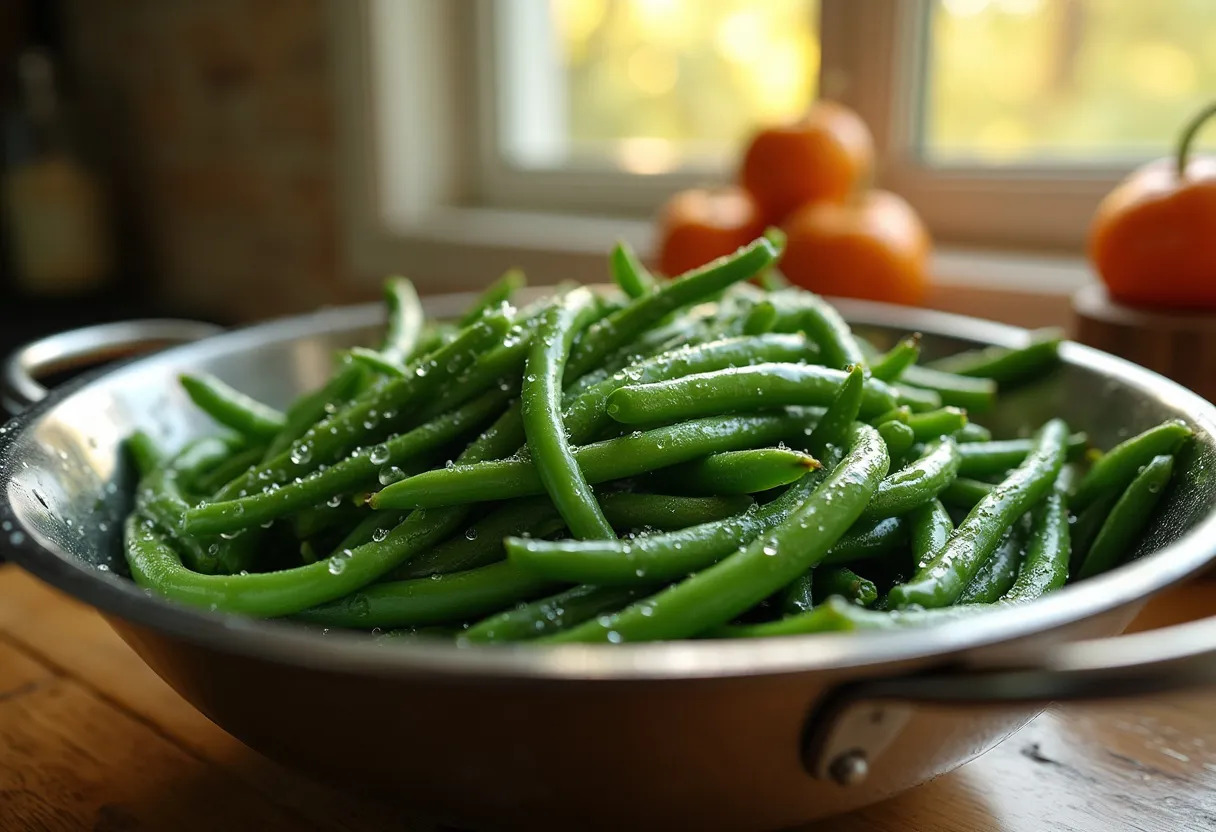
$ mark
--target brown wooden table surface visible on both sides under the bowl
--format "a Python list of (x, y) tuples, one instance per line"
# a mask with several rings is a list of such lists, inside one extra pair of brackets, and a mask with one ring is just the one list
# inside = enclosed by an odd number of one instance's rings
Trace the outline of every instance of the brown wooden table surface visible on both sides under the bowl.
[[(1142, 629), (1212, 609), (1216, 583)], [(0, 567), (0, 830), (433, 828), (249, 751), (88, 607)], [(807, 831), (1216, 830), (1216, 691), (1052, 708), (963, 769)]]

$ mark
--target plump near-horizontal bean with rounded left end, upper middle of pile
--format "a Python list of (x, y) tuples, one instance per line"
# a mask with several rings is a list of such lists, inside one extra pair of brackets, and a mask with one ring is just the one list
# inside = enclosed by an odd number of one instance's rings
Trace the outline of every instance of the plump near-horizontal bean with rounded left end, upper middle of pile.
[[(608, 397), (608, 415), (626, 425), (675, 422), (711, 414), (784, 405), (829, 405), (848, 375), (800, 364), (758, 364), (700, 372), (651, 384), (627, 384)], [(862, 415), (895, 406), (890, 388), (867, 381)]]

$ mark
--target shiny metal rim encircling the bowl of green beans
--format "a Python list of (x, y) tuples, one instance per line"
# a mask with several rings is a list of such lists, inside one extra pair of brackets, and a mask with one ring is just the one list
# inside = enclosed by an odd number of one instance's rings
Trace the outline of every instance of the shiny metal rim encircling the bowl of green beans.
[[(428, 299), (432, 314), (458, 309), (465, 296)], [(1000, 345), (1018, 345), (1025, 330), (946, 313), (888, 304), (837, 300), (846, 319), (929, 335)], [(107, 367), (54, 390), (44, 401), (11, 420), (0, 434), (0, 485), (18, 462), (12, 449), (39, 418), (72, 395), (119, 375), (140, 375), (158, 364), (178, 364), (207, 352), (231, 353), (260, 344), (323, 332), (371, 326), (383, 319), (378, 304), (326, 309), (274, 320)], [(1073, 342), (1066, 364), (1170, 400), (1188, 420), (1216, 437), (1216, 406), (1158, 373)], [(7, 435), (5, 435), (7, 434)], [(18, 523), (10, 501), (0, 501), (0, 521)], [(1034, 603), (995, 611), (964, 628), (941, 626), (906, 633), (805, 635), (732, 641), (672, 641), (641, 645), (452, 647), (424, 642), (375, 643), (365, 635), (317, 634), (299, 625), (208, 613), (153, 596), (118, 575), (81, 563), (23, 528), (26, 539), (6, 550), (18, 566), (106, 614), (218, 652), (282, 664), (355, 675), (443, 676), (467, 681), (552, 680), (567, 682), (696, 680), (844, 671), (899, 663), (923, 665), (961, 652), (1045, 634), (1147, 598), (1194, 574), (1216, 555), (1216, 512), (1169, 546), (1105, 575), (1068, 586)]]

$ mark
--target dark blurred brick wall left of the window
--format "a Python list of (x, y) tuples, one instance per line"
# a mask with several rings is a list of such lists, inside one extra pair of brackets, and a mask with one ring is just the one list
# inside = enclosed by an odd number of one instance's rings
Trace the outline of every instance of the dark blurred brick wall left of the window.
[(66, 0), (86, 124), (154, 288), (254, 319), (348, 299), (325, 0)]

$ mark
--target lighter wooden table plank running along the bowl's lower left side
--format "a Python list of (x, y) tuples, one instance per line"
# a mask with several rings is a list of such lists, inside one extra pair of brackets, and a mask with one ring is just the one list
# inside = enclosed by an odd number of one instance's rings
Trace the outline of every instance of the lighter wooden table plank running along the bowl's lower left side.
[(400, 806), (350, 794), (269, 760), (195, 710), (96, 612), (16, 567), (0, 567), (0, 634), (69, 674), (190, 754), (326, 828), (405, 828)]

